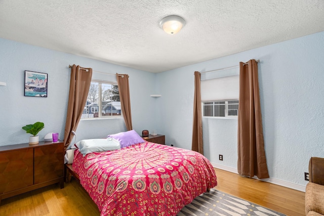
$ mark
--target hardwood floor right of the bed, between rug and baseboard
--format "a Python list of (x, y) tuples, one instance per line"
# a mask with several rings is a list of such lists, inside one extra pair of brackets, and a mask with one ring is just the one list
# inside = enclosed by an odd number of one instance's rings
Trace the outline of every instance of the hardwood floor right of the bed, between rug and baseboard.
[(216, 190), (287, 214), (305, 215), (305, 193), (216, 169)]

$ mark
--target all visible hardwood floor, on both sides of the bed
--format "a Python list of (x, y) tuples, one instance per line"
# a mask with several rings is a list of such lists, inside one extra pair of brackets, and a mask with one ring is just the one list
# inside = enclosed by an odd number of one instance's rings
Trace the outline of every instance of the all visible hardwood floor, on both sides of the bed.
[[(305, 193), (216, 169), (216, 190), (249, 200), (288, 216), (305, 215)], [(64, 189), (51, 185), (2, 200), (0, 215), (100, 215), (88, 193), (72, 178)]]

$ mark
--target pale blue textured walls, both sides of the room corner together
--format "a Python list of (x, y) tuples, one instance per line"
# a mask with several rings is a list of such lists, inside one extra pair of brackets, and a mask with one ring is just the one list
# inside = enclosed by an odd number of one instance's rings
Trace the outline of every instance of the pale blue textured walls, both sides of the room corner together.
[[(0, 38), (0, 145), (28, 142), (25, 124), (45, 122), (39, 133), (63, 139), (69, 64), (130, 75), (134, 129), (166, 135), (166, 143), (191, 149), (194, 71), (260, 59), (261, 111), (269, 181), (300, 189), (311, 156), (324, 157), (324, 32), (186, 67), (149, 73)], [(24, 70), (48, 73), (48, 98), (24, 97)], [(152, 98), (151, 94), (162, 97)], [(204, 149), (211, 162), (236, 169), (237, 121), (204, 118)], [(82, 120), (77, 140), (126, 131), (122, 118)], [(224, 160), (219, 161), (218, 155)], [(288, 183), (288, 185), (287, 185)]]

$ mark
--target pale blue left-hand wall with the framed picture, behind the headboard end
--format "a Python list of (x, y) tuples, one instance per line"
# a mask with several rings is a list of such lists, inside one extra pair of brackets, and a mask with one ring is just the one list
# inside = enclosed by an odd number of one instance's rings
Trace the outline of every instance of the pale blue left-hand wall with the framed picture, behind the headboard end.
[[(58, 132), (59, 139), (64, 139), (69, 64), (129, 74), (133, 128), (139, 134), (156, 128), (155, 98), (150, 97), (155, 92), (156, 74), (0, 38), (0, 81), (7, 83), (0, 86), (0, 146), (28, 143), (30, 135), (21, 127), (36, 121), (45, 123), (38, 134), (40, 140), (50, 132)], [(25, 70), (48, 73), (47, 98), (24, 97)], [(104, 138), (121, 131), (126, 131), (123, 118), (81, 120), (76, 139)]]

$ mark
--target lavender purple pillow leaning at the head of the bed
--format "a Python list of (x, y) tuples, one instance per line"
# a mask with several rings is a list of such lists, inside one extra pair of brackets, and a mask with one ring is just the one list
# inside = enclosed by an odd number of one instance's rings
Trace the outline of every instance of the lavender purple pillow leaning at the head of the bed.
[(108, 137), (111, 137), (111, 138), (119, 141), (120, 148), (124, 148), (127, 146), (145, 142), (143, 140), (143, 138), (141, 138), (134, 130), (127, 131), (127, 132), (120, 132), (118, 134), (108, 135), (107, 138)]

